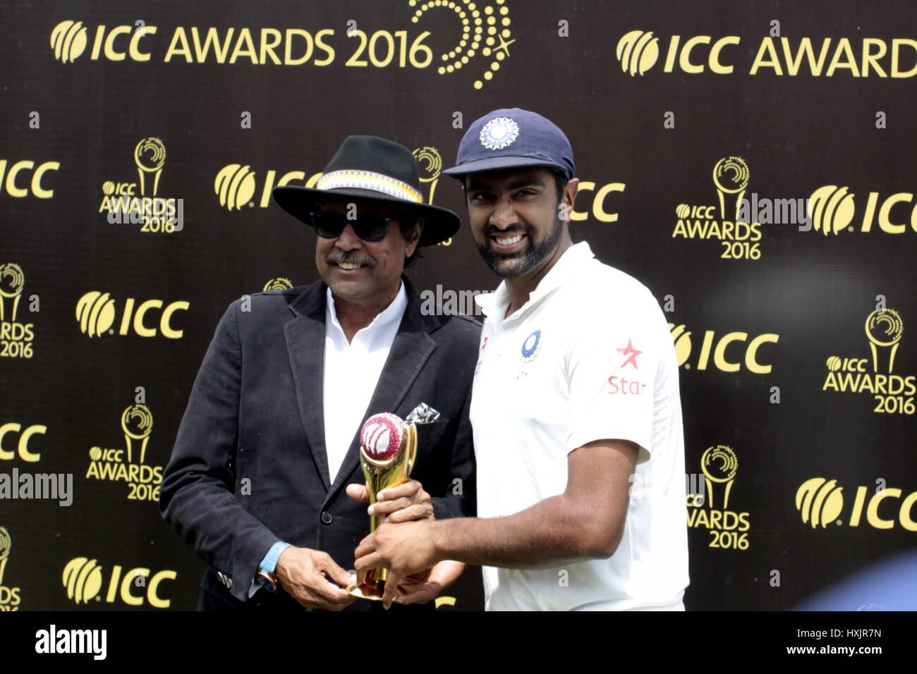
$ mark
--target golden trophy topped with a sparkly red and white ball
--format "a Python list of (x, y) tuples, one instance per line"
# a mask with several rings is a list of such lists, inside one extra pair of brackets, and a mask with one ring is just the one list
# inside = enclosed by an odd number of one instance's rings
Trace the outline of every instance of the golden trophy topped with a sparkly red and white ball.
[[(417, 457), (417, 426), (408, 424), (400, 416), (383, 413), (370, 416), (359, 433), (359, 462), (366, 478), (370, 503), (383, 489), (395, 487), (408, 480)], [(370, 517), (370, 532), (382, 524), (381, 515)], [(366, 573), (359, 585), (347, 591), (354, 597), (381, 602), (389, 569), (377, 567)]]

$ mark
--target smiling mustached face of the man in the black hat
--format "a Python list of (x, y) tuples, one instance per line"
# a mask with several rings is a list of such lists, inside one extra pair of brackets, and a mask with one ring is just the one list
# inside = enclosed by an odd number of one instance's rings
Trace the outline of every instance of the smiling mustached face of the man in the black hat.
[[(323, 210), (348, 215), (348, 204), (356, 204), (358, 218), (359, 215), (399, 215), (392, 206), (351, 197), (335, 199)], [(318, 238), (315, 266), (337, 298), (387, 304), (398, 293), (404, 259), (414, 253), (418, 240), (419, 237), (413, 242), (405, 241), (398, 223), (392, 221), (381, 241), (364, 241), (348, 223), (337, 238)]]

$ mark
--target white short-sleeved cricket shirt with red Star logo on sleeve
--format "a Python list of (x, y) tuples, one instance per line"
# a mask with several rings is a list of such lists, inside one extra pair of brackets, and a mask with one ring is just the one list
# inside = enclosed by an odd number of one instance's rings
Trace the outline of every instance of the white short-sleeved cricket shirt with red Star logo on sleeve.
[(475, 301), (486, 315), (470, 406), (479, 517), (518, 513), (563, 493), (567, 455), (592, 440), (640, 446), (614, 555), (558, 569), (484, 567), (487, 609), (683, 610), (678, 361), (652, 294), (582, 242), (513, 315), (503, 317), (506, 282)]

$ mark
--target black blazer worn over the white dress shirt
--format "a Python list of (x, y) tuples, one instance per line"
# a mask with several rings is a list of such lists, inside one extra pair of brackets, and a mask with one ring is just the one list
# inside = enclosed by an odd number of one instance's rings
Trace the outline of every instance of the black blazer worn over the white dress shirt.
[[(403, 282), (408, 305), (363, 419), (404, 418), (419, 403), (436, 408), (439, 421), (418, 428), (412, 477), (433, 497), (437, 518), (473, 515), (468, 415), (481, 326), (462, 315), (422, 315), (414, 287)], [(325, 305), (324, 282), (230, 304), (194, 381), (163, 472), (160, 512), (210, 567), (201, 582), (210, 600), (298, 607), (282, 591), (259, 590), (249, 601), (268, 549), (282, 540), (352, 569), (354, 549), (370, 533), (366, 504), (345, 493), (363, 483), (359, 428), (337, 479), (328, 479)]]

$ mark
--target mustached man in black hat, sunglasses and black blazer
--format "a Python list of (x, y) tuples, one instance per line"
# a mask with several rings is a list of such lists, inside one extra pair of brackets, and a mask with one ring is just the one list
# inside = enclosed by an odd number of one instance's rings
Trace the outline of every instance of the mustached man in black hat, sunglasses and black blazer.
[[(200, 609), (354, 602), (344, 569), (369, 533), (359, 430), (372, 414), (405, 417), (423, 403), (438, 413), (418, 426), (414, 480), (383, 492), (372, 514), (474, 513), (468, 412), (481, 328), (422, 315), (402, 274), (415, 249), (455, 234), (458, 216), (423, 203), (410, 150), (370, 136), (347, 138), (315, 189), (273, 195), (315, 228), (322, 280), (231, 304), (194, 382), (160, 510), (207, 562)], [(447, 563), (405, 580), (403, 601), (454, 578)]]

